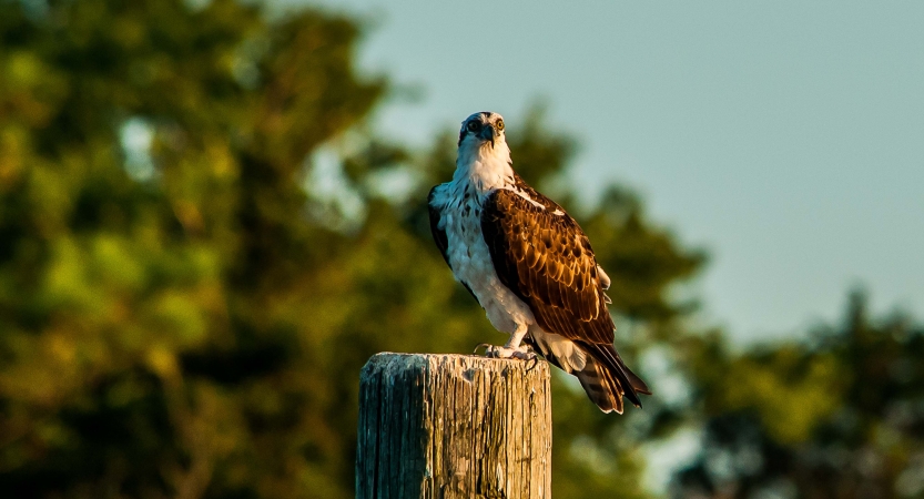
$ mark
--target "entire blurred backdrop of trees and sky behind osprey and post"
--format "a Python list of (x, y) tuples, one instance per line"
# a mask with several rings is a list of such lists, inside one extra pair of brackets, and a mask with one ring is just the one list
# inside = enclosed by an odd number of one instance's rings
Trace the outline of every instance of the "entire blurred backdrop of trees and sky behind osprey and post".
[(0, 490), (352, 497), (365, 360), (501, 339), (491, 110), (656, 394), (555, 376), (556, 498), (924, 496), (924, 7), (593, 7), (0, 0)]

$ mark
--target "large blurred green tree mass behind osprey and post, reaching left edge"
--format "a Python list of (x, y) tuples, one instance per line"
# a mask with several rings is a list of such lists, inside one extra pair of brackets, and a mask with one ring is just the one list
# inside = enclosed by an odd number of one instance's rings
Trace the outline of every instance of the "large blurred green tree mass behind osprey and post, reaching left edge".
[[(497, 338), (425, 222), (451, 133), (418, 157), (365, 131), (387, 83), (357, 35), (231, 0), (0, 0), (0, 490), (349, 497), (365, 359)], [(571, 206), (572, 141), (538, 108), (511, 129)], [(644, 374), (703, 255), (626, 190), (572, 211)], [(556, 497), (647, 496), (641, 442), (681, 405), (607, 416), (565, 377), (554, 400)]]

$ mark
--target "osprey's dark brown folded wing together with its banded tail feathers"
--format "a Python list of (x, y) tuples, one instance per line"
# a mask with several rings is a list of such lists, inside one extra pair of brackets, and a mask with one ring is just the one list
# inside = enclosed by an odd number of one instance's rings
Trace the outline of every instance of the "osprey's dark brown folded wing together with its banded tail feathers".
[[(587, 355), (583, 368), (572, 374), (602, 410), (621, 413), (623, 396), (641, 407), (638, 394), (649, 394), (648, 386), (612, 346), (609, 276), (597, 266), (577, 222), (563, 210), (555, 214), (560, 206), (541, 194), (530, 190), (529, 195), (538, 204), (509, 190), (497, 190), (485, 202), (481, 232), (498, 278), (529, 305), (542, 330)], [(552, 355), (548, 348), (542, 353)]]

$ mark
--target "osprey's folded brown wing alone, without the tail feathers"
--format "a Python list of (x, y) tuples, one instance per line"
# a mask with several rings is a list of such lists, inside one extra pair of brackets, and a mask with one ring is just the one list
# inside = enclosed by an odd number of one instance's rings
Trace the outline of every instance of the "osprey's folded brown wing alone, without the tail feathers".
[(536, 191), (529, 195), (541, 206), (509, 190), (485, 202), (481, 232), (500, 282), (530, 306), (542, 329), (612, 345), (616, 327), (590, 242), (560, 206)]

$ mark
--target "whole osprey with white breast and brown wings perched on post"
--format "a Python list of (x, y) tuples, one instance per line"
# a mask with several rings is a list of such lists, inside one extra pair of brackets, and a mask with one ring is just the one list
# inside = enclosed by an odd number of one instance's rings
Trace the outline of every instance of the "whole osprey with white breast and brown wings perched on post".
[(430, 230), (456, 279), (510, 335), (487, 355), (539, 352), (577, 376), (605, 413), (621, 414), (623, 395), (641, 407), (638, 394), (651, 393), (613, 348), (610, 278), (583, 231), (514, 171), (500, 114), (468, 116), (458, 147), (453, 180), (427, 198)]

